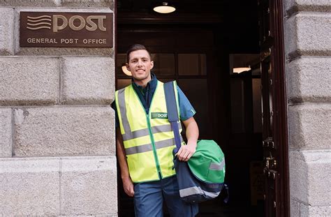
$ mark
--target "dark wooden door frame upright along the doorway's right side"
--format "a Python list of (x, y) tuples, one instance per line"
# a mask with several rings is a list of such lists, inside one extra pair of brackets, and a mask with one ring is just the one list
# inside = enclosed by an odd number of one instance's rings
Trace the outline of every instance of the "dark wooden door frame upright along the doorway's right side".
[[(279, 149), (279, 201), (281, 206), (277, 207), (279, 216), (290, 216), (290, 186), (288, 167), (288, 118), (287, 118), (287, 97), (286, 97), (286, 68), (285, 68), (285, 47), (284, 47), (284, 13), (283, 0), (258, 0), (268, 2), (269, 29), (268, 33), (264, 27), (260, 27), (261, 59), (270, 56), (272, 68), (273, 88), (273, 120), (274, 120), (274, 143)], [(263, 9), (260, 9), (263, 10)], [(262, 24), (261, 24), (262, 25)], [(266, 39), (267, 38), (267, 39)], [(271, 40), (268, 40), (272, 38)], [(262, 63), (262, 61), (261, 61)], [(267, 202), (267, 201), (265, 201)], [(273, 208), (273, 207), (272, 207)]]

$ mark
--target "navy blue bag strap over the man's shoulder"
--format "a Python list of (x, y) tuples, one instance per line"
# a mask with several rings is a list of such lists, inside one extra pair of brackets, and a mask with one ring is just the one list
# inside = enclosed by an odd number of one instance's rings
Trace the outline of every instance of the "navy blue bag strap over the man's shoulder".
[(178, 110), (177, 110), (177, 102), (176, 102), (176, 96), (175, 96), (175, 81), (173, 82), (167, 82), (163, 85), (164, 87), (164, 93), (165, 93), (165, 104), (167, 105), (167, 112), (168, 112), (168, 120), (171, 124), (172, 131), (175, 135), (175, 144), (176, 149), (175, 153), (180, 149), (182, 146), (180, 142), (180, 135), (179, 135), (179, 128), (178, 128)]

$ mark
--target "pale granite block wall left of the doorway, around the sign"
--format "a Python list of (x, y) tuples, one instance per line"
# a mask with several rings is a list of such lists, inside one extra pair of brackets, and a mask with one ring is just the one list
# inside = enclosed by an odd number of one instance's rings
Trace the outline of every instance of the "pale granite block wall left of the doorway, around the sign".
[(112, 0), (0, 0), (0, 216), (117, 216), (113, 48), (20, 47), (20, 12)]

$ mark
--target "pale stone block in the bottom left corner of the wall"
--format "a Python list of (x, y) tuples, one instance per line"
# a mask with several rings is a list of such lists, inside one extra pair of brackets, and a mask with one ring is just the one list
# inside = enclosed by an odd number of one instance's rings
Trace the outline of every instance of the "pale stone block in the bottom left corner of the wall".
[(0, 159), (0, 216), (58, 216), (59, 160)]

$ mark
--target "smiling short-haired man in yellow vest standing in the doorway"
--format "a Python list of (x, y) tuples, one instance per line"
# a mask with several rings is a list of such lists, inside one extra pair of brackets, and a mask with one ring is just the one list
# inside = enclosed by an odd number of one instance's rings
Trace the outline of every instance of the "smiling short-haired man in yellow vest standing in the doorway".
[[(144, 45), (132, 45), (126, 53), (126, 68), (132, 84), (116, 91), (117, 158), (124, 191), (134, 196), (135, 216), (163, 216), (163, 200), (170, 216), (195, 216), (197, 204), (179, 198), (173, 169), (175, 140), (167, 117), (163, 83), (151, 73), (154, 66)], [(196, 113), (177, 87), (179, 117), (186, 128), (187, 144), (177, 152), (187, 161), (196, 151), (198, 125)], [(180, 123), (179, 128), (181, 129)]]

